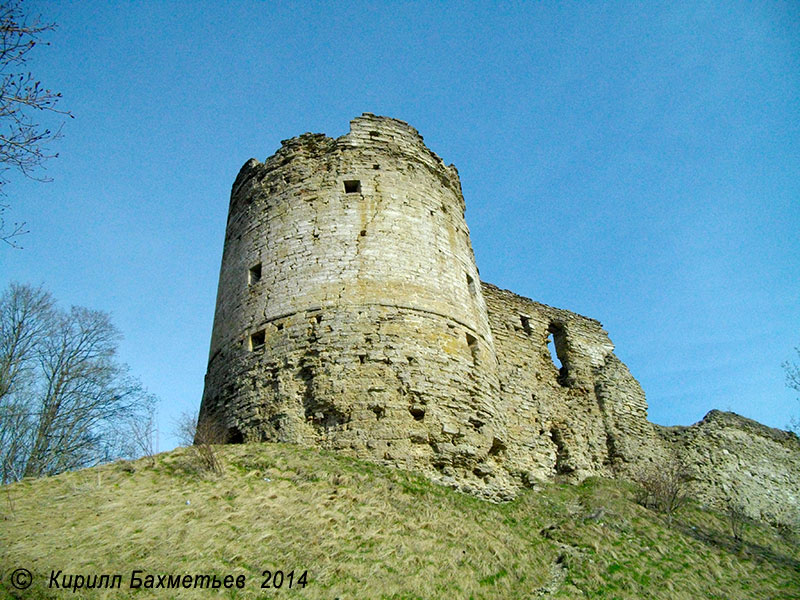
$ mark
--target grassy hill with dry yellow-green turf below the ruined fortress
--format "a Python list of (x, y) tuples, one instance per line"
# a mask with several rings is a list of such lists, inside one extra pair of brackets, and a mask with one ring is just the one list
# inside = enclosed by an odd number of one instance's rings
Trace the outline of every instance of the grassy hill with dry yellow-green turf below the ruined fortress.
[[(221, 475), (178, 449), (0, 488), (0, 598), (800, 598), (790, 535), (747, 523), (738, 543), (697, 506), (668, 522), (620, 482), (548, 484), (497, 505), (332, 453), (218, 452)], [(18, 568), (33, 576), (24, 592)], [(244, 585), (130, 589), (134, 570), (154, 585)], [(103, 574), (121, 586), (52, 589), (51, 572), (60, 586)]]

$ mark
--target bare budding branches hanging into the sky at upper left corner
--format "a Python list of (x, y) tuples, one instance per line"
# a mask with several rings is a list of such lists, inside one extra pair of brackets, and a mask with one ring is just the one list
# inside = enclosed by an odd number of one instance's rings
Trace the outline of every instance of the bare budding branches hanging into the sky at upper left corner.
[[(29, 53), (37, 45), (47, 45), (41, 36), (54, 28), (53, 23), (26, 16), (19, 0), (0, 1), (0, 193), (9, 170), (46, 181), (35, 174), (47, 159), (58, 156), (47, 150), (47, 143), (58, 138), (61, 129), (41, 125), (39, 117), (43, 113), (72, 117), (57, 107), (60, 93), (47, 89), (25, 71)], [(16, 246), (25, 224), (6, 226), (3, 214), (7, 209), (7, 204), (0, 204), (0, 240)]]

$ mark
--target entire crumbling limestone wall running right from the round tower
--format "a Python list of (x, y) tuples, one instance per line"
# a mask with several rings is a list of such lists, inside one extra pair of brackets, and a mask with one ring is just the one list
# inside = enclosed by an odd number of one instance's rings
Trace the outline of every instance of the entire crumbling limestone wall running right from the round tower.
[[(599, 322), (483, 284), (506, 415), (503, 468), (522, 484), (554, 476), (631, 478), (677, 457), (693, 498), (800, 526), (800, 441), (733, 413), (690, 427), (647, 420), (641, 386)], [(548, 337), (563, 365), (559, 371)]]

